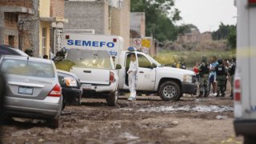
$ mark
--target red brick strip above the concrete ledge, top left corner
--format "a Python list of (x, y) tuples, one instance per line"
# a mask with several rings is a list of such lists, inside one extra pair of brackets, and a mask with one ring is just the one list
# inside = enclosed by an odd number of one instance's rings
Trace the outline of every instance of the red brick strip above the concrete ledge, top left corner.
[(24, 6), (32, 8), (33, 0), (0, 0), (0, 6)]

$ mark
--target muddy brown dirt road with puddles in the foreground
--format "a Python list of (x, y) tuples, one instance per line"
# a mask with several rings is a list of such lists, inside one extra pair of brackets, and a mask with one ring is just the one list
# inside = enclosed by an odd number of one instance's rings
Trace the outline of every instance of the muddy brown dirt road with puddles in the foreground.
[(126, 97), (108, 107), (101, 99), (83, 99), (67, 106), (61, 125), (53, 130), (42, 121), (15, 118), (4, 126), (3, 143), (242, 143), (234, 137), (230, 98), (195, 98), (162, 102)]

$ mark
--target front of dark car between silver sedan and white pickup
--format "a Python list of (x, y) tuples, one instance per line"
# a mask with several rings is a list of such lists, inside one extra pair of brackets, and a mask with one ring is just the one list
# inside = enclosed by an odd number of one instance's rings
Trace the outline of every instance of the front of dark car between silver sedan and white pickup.
[(75, 74), (64, 70), (57, 70), (58, 81), (62, 86), (63, 109), (65, 105), (81, 105), (82, 88)]

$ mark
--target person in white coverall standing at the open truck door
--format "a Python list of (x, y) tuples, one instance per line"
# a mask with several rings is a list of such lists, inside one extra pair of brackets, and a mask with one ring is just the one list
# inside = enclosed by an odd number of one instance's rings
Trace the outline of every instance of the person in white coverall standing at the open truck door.
[(130, 90), (130, 98), (128, 98), (129, 101), (135, 100), (136, 98), (137, 72), (138, 62), (136, 61), (136, 56), (135, 54), (130, 54), (130, 66), (129, 70), (127, 71)]

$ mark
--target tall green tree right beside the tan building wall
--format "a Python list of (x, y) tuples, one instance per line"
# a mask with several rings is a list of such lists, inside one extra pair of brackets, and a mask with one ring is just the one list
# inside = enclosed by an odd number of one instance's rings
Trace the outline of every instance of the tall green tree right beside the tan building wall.
[(178, 28), (174, 22), (181, 19), (180, 11), (174, 8), (174, 0), (131, 0), (131, 12), (146, 13), (146, 35), (154, 35), (160, 42), (174, 41)]

